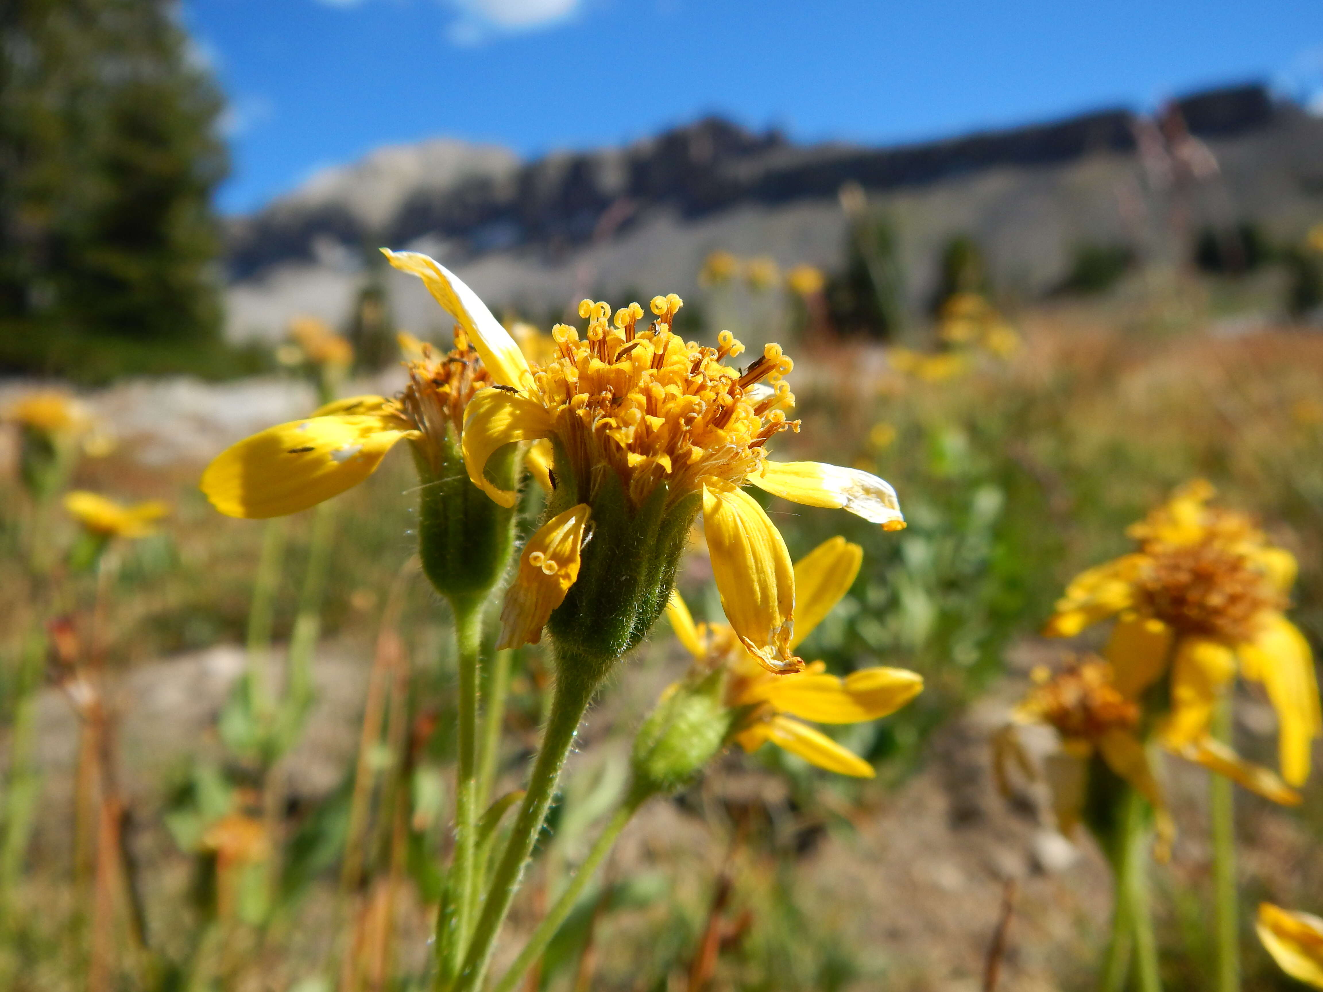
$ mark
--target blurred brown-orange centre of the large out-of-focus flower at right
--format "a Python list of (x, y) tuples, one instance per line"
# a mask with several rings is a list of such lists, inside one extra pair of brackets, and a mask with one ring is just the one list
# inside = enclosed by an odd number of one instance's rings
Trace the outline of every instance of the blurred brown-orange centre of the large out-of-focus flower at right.
[(1148, 554), (1140, 597), (1176, 631), (1238, 644), (1254, 636), (1265, 610), (1285, 606), (1261, 569), (1217, 541), (1156, 545)]

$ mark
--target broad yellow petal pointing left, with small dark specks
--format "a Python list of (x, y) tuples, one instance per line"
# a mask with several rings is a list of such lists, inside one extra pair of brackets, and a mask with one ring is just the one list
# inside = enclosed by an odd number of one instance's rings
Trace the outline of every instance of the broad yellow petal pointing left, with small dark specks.
[(315, 417), (232, 444), (202, 472), (202, 492), (230, 517), (283, 517), (357, 485), (406, 436), (381, 417)]

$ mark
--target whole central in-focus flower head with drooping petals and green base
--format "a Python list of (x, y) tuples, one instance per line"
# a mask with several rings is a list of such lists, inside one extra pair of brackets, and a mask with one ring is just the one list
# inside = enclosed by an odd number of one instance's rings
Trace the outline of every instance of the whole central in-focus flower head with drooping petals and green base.
[(557, 325), (550, 361), (523, 365), (468, 405), (468, 475), (497, 503), (513, 504), (515, 493), (487, 477), (496, 451), (540, 438), (554, 450), (549, 520), (524, 550), (501, 645), (536, 643), (550, 623), (562, 649), (619, 657), (665, 606), (701, 509), (736, 635), (770, 671), (792, 672), (803, 667), (791, 649), (794, 569), (779, 532), (740, 487), (904, 526), (896, 493), (881, 479), (769, 459), (767, 442), (798, 429), (785, 413), (794, 405), (782, 381), (790, 358), (769, 344), (746, 368), (728, 365), (744, 345), (729, 332), (716, 348), (683, 341), (672, 331), (680, 306), (679, 296), (656, 296), (656, 319), (640, 325), (636, 303), (613, 317), (607, 304), (583, 300), (582, 337)]

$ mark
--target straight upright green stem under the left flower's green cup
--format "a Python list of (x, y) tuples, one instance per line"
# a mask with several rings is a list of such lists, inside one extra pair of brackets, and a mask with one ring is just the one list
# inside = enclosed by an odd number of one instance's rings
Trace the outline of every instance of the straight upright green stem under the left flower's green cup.
[(437, 947), (442, 967), (437, 988), (455, 977), (476, 910), (474, 850), (478, 832), (478, 667), (483, 643), (483, 600), (452, 600), (459, 648), (459, 726), (455, 768), (455, 853), (450, 868), (450, 898), (437, 917)]

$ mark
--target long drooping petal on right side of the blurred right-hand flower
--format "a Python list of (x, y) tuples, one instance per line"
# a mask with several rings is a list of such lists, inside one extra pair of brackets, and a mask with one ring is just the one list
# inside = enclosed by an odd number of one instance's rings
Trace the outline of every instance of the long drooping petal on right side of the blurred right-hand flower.
[(1277, 710), (1277, 746), (1282, 778), (1302, 786), (1310, 776), (1310, 750), (1323, 729), (1319, 718), (1319, 686), (1308, 641), (1281, 614), (1269, 614), (1258, 636), (1237, 649), (1241, 672), (1262, 682)]

